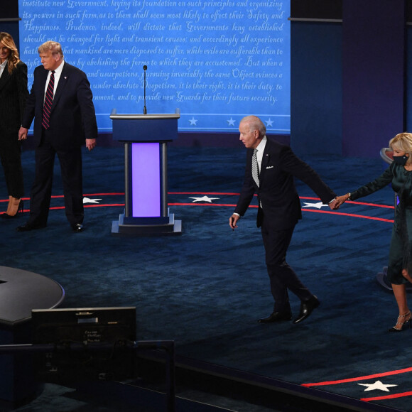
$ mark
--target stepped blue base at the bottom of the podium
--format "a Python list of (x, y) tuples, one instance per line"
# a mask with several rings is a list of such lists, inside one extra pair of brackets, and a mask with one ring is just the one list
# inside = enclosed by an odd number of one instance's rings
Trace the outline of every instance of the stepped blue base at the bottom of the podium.
[(168, 234), (181, 234), (182, 221), (175, 220), (175, 215), (170, 214), (168, 219), (164, 217), (151, 217), (142, 223), (141, 217), (128, 217), (125, 222), (124, 214), (119, 215), (119, 221), (112, 222), (112, 234), (119, 236), (165, 236)]

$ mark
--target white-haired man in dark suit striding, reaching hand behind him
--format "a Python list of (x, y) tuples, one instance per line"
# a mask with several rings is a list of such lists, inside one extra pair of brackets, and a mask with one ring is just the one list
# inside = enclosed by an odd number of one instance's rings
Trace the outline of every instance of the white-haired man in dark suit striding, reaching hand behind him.
[[(306, 183), (331, 209), (335, 205), (336, 195), (322, 182), (315, 170), (295, 156), (291, 148), (267, 139), (266, 126), (259, 117), (244, 117), (239, 124), (239, 131), (240, 140), (248, 149), (246, 171), (242, 192), (234, 214), (229, 218), (229, 225), (232, 229), (237, 227), (239, 217), (244, 215), (256, 192), (259, 202), (256, 222), (257, 227), (261, 227), (271, 293), (275, 300), (273, 313), (258, 322), (291, 320), (289, 290), (301, 301), (298, 318), (293, 320), (293, 323), (298, 323), (308, 318), (313, 309), (318, 307), (319, 300), (286, 263), (286, 252), (293, 229), (302, 217), (293, 178), (299, 178)], [(255, 165), (259, 169), (256, 173), (253, 171), (255, 149)]]

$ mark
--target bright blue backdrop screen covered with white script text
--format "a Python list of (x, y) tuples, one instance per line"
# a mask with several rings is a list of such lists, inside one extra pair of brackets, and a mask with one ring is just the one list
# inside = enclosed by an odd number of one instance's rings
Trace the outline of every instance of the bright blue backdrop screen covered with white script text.
[(46, 40), (85, 71), (99, 131), (109, 114), (180, 112), (179, 131), (237, 131), (248, 114), (290, 133), (287, 1), (19, 0), (29, 83)]

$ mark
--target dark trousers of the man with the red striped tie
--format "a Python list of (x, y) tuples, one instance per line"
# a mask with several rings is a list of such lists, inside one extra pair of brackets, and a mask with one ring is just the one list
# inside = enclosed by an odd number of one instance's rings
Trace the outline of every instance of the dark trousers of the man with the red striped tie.
[(30, 195), (29, 222), (40, 226), (47, 224), (56, 154), (60, 162), (67, 220), (70, 224), (81, 224), (85, 216), (81, 148), (80, 146), (67, 150), (55, 148), (48, 139), (47, 131), (43, 131), (42, 143), (36, 148), (36, 172)]

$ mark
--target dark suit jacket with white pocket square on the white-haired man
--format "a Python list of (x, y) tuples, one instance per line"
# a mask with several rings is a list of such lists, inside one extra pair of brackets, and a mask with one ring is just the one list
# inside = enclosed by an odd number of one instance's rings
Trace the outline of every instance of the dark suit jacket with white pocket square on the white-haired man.
[[(253, 149), (246, 152), (246, 170), (242, 192), (234, 212), (243, 216), (252, 200), (258, 194), (266, 223), (274, 229), (293, 227), (302, 217), (300, 200), (293, 178), (296, 177), (308, 185), (324, 203), (330, 202), (336, 195), (320, 179), (318, 173), (301, 161), (291, 148), (268, 139), (259, 175), (258, 188), (251, 177), (251, 156)], [(261, 225), (259, 207), (257, 225)]]

